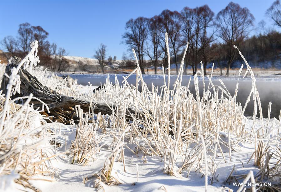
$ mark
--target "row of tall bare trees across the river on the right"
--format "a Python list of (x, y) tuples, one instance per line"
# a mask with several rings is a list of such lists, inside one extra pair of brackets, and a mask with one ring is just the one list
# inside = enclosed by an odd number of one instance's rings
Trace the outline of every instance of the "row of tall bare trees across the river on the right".
[[(281, 23), (280, 7), (280, 1), (277, 0), (266, 12), (278, 27)], [(197, 66), (202, 61), (205, 75), (210, 62), (214, 62), (221, 69), (226, 67), (228, 75), (233, 62), (238, 60), (233, 45), (242, 50), (248, 59), (263, 61), (280, 57), (281, 34), (273, 29), (265, 29), (264, 21), (259, 23), (258, 29), (254, 29), (253, 21), (254, 17), (248, 8), (242, 8), (233, 2), (217, 15), (208, 5), (197, 8), (184, 7), (181, 12), (166, 9), (152, 18), (130, 19), (125, 25), (126, 32), (122, 38), (124, 44), (130, 49), (135, 49), (143, 74), (144, 57), (151, 60), (155, 74), (159, 64), (163, 64), (167, 69), (168, 55), (164, 37), (167, 32), (171, 59), (177, 73), (183, 49), (188, 41), (189, 46), (184, 58), (185, 74), (188, 66), (191, 66), (193, 74), (196, 74)], [(248, 38), (253, 30), (259, 31), (259, 34)]]

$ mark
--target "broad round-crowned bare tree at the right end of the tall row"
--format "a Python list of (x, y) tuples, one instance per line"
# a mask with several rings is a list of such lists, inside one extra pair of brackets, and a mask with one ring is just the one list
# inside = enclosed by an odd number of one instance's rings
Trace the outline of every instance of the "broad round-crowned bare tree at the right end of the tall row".
[(216, 20), (220, 29), (220, 37), (227, 45), (228, 67), (226, 75), (229, 75), (229, 68), (236, 54), (233, 45), (239, 46), (248, 36), (253, 26), (254, 17), (248, 8), (241, 8), (239, 4), (230, 2), (226, 8), (218, 13)]

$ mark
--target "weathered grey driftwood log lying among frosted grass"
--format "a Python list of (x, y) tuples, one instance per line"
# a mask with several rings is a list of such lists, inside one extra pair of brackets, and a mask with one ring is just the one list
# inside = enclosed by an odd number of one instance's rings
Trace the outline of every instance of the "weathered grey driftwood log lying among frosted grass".
[[(13, 67), (17, 67), (17, 65), (20, 63), (21, 59), (18, 57), (13, 57), (12, 62), (6, 66), (5, 73), (10, 75), (11, 69)], [(57, 120), (58, 122), (63, 122), (65, 124), (69, 123), (70, 119), (75, 119), (75, 116), (73, 114), (76, 112), (75, 106), (80, 105), (83, 109), (83, 112), (89, 112), (89, 106), (94, 106), (94, 113), (97, 114), (101, 112), (101, 114), (105, 115), (111, 115), (113, 112), (113, 109), (116, 109), (115, 104), (109, 104), (109, 106), (100, 101), (87, 101), (84, 99), (79, 99), (75, 97), (69, 97), (65, 95), (61, 95), (58, 92), (52, 90), (51, 88), (47, 86), (43, 86), (36, 77), (31, 75), (27, 70), (23, 69), (23, 67), (18, 71), (18, 75), (20, 76), (20, 94), (16, 93), (12, 96), (12, 99), (17, 97), (23, 97), (23, 96), (29, 96), (30, 93), (33, 94), (34, 97), (40, 99), (43, 101), (47, 106), (49, 107), (49, 111), (47, 109), (44, 109), (44, 112), (42, 114), (48, 116), (54, 116), (50, 119), (52, 121)], [(1, 90), (3, 90), (3, 93), (6, 95), (7, 93), (7, 84), (9, 82), (8, 77), (3, 75), (3, 79), (1, 82)], [(33, 104), (33, 108), (37, 109), (38, 107), (42, 107), (42, 103), (36, 99), (32, 99), (31, 104)], [(135, 114), (135, 110), (128, 108), (126, 110), (126, 117), (128, 119), (131, 119), (131, 114)], [(142, 118), (143, 113), (138, 112), (138, 117)]]

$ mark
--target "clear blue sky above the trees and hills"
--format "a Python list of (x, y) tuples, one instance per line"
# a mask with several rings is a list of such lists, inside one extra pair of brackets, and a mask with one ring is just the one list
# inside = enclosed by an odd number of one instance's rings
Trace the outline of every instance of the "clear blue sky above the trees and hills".
[[(18, 25), (40, 25), (49, 33), (48, 40), (67, 50), (68, 55), (92, 57), (100, 43), (108, 55), (122, 58), (128, 47), (122, 42), (125, 23), (139, 16), (152, 17), (164, 9), (181, 11), (204, 4), (216, 14), (230, 1), (4, 1), (0, 0), (0, 39), (16, 36)], [(233, 1), (247, 7), (255, 24), (264, 19), (273, 1)], [(1, 49), (3, 49), (1, 47)]]

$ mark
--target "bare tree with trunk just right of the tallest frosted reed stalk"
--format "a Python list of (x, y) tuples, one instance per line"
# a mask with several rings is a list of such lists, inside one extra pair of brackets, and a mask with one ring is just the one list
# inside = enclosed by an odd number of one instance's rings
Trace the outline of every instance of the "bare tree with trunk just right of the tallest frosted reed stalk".
[(170, 11), (168, 9), (162, 11), (159, 15), (161, 18), (161, 24), (163, 32), (168, 33), (168, 39), (170, 40), (173, 48), (173, 55), (175, 57), (176, 71), (178, 74), (178, 64), (177, 64), (177, 55), (182, 47), (181, 38), (181, 22), (180, 22), (180, 13), (177, 11)]

